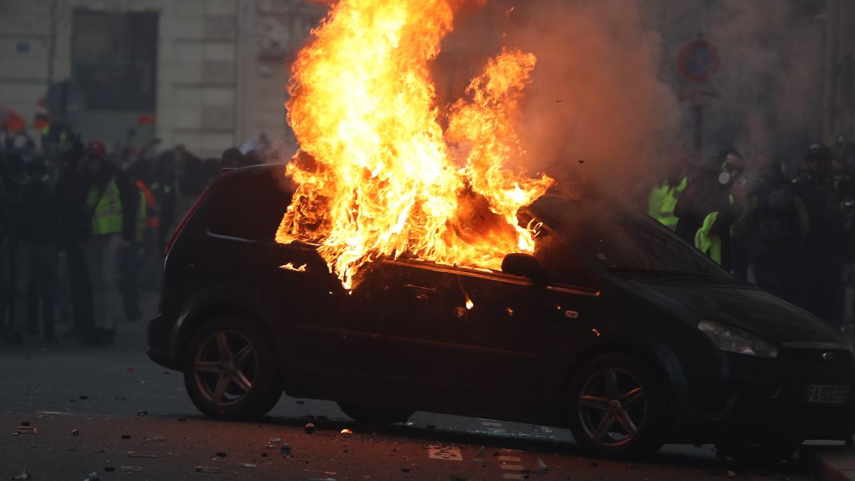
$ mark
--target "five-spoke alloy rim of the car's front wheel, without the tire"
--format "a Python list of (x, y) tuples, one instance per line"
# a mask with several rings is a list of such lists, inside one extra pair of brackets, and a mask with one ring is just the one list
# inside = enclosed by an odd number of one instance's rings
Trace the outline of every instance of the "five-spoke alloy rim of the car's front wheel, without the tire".
[(645, 424), (648, 403), (638, 377), (607, 367), (589, 377), (577, 400), (579, 420), (587, 436), (603, 448), (632, 442)]

